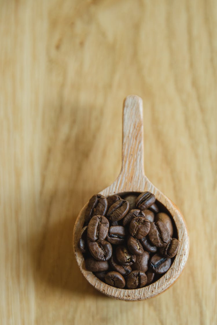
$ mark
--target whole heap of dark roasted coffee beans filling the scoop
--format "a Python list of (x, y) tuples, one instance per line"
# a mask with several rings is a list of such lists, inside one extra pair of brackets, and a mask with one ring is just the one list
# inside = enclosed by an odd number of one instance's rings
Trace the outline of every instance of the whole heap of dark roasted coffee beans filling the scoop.
[(172, 220), (162, 210), (151, 192), (93, 195), (78, 241), (87, 270), (121, 289), (159, 279), (179, 248)]

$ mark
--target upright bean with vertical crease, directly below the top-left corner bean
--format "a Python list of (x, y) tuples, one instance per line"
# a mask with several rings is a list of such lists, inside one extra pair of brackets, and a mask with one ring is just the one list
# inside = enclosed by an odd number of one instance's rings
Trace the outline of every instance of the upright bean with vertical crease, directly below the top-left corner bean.
[(94, 215), (88, 224), (88, 239), (91, 241), (103, 240), (109, 230), (108, 219), (102, 215)]

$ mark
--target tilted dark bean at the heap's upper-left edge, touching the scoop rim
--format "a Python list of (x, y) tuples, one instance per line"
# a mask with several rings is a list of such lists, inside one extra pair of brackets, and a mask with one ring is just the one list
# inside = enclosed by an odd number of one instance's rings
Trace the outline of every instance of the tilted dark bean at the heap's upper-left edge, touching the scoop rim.
[(102, 194), (95, 194), (88, 202), (85, 211), (85, 222), (89, 222), (94, 215), (104, 215), (107, 211), (108, 202)]

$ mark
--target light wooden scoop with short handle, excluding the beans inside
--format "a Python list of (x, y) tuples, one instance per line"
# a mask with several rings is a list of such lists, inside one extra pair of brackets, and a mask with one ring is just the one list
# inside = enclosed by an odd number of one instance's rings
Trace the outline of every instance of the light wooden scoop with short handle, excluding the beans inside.
[(123, 300), (141, 300), (154, 297), (165, 291), (178, 278), (187, 261), (189, 253), (189, 237), (183, 215), (176, 205), (161, 193), (144, 175), (143, 168), (143, 125), (142, 99), (128, 96), (123, 104), (123, 140), (122, 167), (119, 176), (109, 187), (100, 193), (105, 197), (114, 193), (144, 192), (155, 194), (156, 200), (170, 212), (177, 228), (180, 247), (170, 269), (156, 282), (140, 289), (118, 289), (100, 281), (92, 272), (85, 269), (83, 254), (77, 248), (80, 231), (84, 224), (85, 209), (82, 208), (75, 222), (73, 245), (75, 258), (81, 272), (88, 282), (102, 293)]

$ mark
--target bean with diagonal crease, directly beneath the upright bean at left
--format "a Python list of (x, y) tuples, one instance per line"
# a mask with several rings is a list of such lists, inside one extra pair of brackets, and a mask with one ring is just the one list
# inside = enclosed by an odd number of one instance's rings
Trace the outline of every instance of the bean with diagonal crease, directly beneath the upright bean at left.
[(97, 261), (108, 261), (112, 256), (112, 245), (106, 241), (90, 241), (88, 240), (88, 248), (90, 254)]

